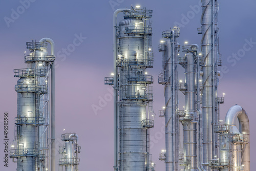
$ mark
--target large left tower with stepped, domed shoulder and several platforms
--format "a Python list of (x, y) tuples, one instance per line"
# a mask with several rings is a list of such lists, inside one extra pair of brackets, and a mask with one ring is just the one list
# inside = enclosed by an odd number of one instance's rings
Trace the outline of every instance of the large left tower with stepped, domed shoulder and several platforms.
[(15, 138), (10, 158), (17, 159), (17, 170), (37, 171), (49, 168), (49, 71), (55, 59), (47, 53), (47, 42), (27, 42), (30, 54), (25, 56), (28, 68), (14, 70), (19, 77)]

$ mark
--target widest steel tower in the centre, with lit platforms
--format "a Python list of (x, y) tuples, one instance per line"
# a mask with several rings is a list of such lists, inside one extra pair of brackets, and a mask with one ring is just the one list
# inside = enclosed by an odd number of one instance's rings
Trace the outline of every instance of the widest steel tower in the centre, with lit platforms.
[(114, 169), (154, 170), (149, 152), (150, 128), (154, 126), (154, 120), (149, 117), (154, 114), (153, 93), (152, 87), (148, 86), (153, 83), (153, 76), (146, 72), (146, 68), (153, 67), (149, 22), (152, 10), (120, 9), (114, 14), (114, 22), (118, 11), (123, 12), (124, 19), (114, 28), (114, 37), (117, 38), (114, 38), (115, 74), (114, 78), (105, 78), (105, 84), (114, 85), (119, 95), (117, 101), (114, 100), (114, 109), (117, 106), (114, 120), (118, 119), (118, 124), (114, 125), (118, 129), (118, 143), (115, 144), (115, 148), (118, 144), (118, 164), (115, 163)]

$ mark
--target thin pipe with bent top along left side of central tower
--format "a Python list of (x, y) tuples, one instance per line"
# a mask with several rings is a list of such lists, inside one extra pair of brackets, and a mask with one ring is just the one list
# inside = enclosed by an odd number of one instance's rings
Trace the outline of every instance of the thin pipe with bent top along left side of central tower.
[(113, 14), (113, 56), (114, 56), (114, 170), (117, 171), (117, 156), (118, 156), (118, 129), (117, 129), (117, 67), (116, 67), (116, 59), (117, 59), (117, 35), (116, 35), (116, 27), (117, 27), (117, 14), (123, 11), (129, 11), (130, 9), (117, 9)]

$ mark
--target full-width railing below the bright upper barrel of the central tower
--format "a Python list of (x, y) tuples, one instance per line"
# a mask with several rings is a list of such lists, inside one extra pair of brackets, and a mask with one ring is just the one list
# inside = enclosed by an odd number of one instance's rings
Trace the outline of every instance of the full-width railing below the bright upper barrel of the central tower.
[(153, 67), (153, 59), (117, 59), (117, 67), (123, 66), (141, 66), (146, 68)]

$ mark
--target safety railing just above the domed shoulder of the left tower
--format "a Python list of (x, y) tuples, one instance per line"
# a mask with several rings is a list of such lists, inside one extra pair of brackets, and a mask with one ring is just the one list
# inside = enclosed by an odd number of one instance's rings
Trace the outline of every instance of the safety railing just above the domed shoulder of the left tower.
[(47, 74), (46, 69), (31, 69), (31, 68), (23, 68), (23, 69), (15, 69), (14, 77), (45, 77)]

